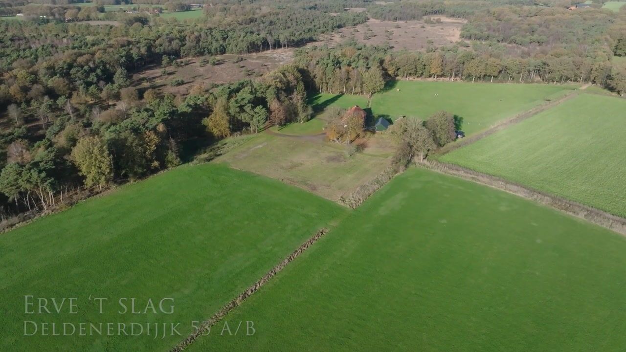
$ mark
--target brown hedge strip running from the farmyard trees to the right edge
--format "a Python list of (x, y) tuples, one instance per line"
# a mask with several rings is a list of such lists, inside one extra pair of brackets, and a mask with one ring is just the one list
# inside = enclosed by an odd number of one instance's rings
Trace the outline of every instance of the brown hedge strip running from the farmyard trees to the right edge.
[(564, 199), (556, 195), (550, 195), (545, 192), (541, 192), (540, 190), (535, 190), (524, 185), (516, 184), (515, 182), (501, 179), (500, 177), (477, 172), (475, 170), (460, 167), (454, 164), (429, 160), (423, 163), (418, 163), (418, 165), (428, 168), (429, 170), (456, 176), (464, 180), (487, 185), (510, 194), (518, 195), (525, 199), (533, 200), (539, 204), (547, 205), (553, 209), (560, 210), (566, 214), (587, 220), (588, 222), (592, 222), (593, 224), (600, 225), (606, 229), (626, 236), (626, 219), (603, 210), (595, 209), (588, 205), (574, 202), (573, 200)]

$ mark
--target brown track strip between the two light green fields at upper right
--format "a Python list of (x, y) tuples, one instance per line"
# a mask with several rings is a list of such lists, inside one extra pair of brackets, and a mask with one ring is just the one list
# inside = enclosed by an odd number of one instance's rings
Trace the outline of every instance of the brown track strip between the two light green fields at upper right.
[(530, 110), (526, 110), (523, 111), (521, 113), (518, 113), (517, 115), (510, 117), (510, 118), (506, 118), (505, 120), (502, 120), (498, 123), (496, 123), (495, 125), (493, 125), (492, 127), (484, 130), (483, 132), (480, 133), (476, 133), (475, 135), (471, 135), (468, 137), (465, 137), (461, 140), (459, 140), (456, 143), (449, 143), (448, 145), (444, 145), (444, 147), (442, 147), (441, 149), (439, 149), (438, 151), (436, 151), (436, 155), (444, 155), (446, 153), (452, 152), (453, 150), (456, 150), (458, 148), (461, 147), (465, 147), (468, 144), (477, 142), (485, 137), (488, 137), (490, 135), (493, 135), (493, 133), (499, 132), (501, 130), (504, 130), (506, 127), (509, 127), (511, 125), (516, 125), (517, 123), (522, 122), (523, 120), (526, 120), (527, 118), (530, 118), (531, 116), (535, 116), (538, 113), (541, 113), (545, 110), (548, 110), (550, 108), (553, 108), (557, 105), (560, 105), (561, 103), (563, 103), (564, 101), (570, 100), (571, 98), (573, 98), (574, 96), (578, 95), (578, 90), (572, 90), (570, 93), (567, 93), (565, 96), (562, 96), (560, 98), (558, 98), (557, 100), (550, 100), (544, 104), (535, 106), (533, 108), (531, 108)]

